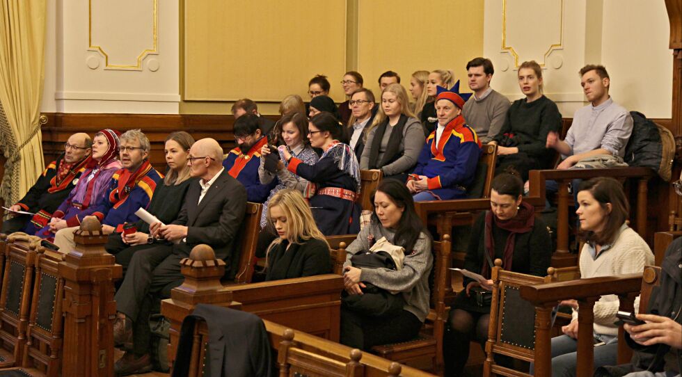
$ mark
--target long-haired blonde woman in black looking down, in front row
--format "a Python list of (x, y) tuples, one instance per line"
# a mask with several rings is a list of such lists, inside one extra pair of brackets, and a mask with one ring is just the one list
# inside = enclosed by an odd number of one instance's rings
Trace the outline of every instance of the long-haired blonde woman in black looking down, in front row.
[(331, 273), (329, 244), (300, 191), (273, 195), (267, 219), (278, 237), (267, 250), (266, 281)]

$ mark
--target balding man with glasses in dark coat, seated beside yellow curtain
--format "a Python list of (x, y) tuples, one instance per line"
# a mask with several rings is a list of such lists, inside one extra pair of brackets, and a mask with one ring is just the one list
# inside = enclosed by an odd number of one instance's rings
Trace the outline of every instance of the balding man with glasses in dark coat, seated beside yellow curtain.
[(2, 223), (1, 232), (19, 232), (29, 225), (29, 221), (38, 229), (47, 225), (52, 212), (56, 211), (76, 186), (86, 168), (92, 145), (93, 139), (88, 134), (71, 135), (64, 143), (64, 153), (49, 163), (24, 198), (10, 207), (13, 211), (27, 211), (35, 216), (10, 214), (13, 217)]

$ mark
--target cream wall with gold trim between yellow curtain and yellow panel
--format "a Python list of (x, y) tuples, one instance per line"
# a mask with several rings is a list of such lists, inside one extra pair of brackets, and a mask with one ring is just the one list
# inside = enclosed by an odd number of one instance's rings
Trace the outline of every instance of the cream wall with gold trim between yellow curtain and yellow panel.
[(49, 1), (41, 111), (177, 113), (178, 17), (178, 0)]

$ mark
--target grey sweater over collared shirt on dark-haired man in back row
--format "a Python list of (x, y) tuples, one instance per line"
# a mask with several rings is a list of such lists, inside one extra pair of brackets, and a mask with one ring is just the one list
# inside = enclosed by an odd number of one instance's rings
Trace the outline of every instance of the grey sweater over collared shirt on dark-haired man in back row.
[(472, 95), (464, 104), (462, 114), (466, 124), (476, 131), (481, 143), (488, 143), (502, 129), (509, 105), (507, 97), (491, 90), (482, 99)]

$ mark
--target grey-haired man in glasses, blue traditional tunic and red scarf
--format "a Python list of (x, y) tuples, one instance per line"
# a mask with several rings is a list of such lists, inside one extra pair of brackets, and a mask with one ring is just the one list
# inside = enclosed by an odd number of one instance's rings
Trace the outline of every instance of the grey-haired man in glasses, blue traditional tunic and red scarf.
[[(147, 208), (161, 175), (149, 162), (149, 139), (139, 129), (130, 129), (119, 137), (122, 169), (113, 173), (109, 183), (109, 200), (95, 206), (91, 216), (102, 223), (102, 232), (111, 234), (123, 232), (125, 223), (135, 223), (135, 214), (140, 208)], [(88, 216), (86, 216), (87, 218)], [(54, 243), (59, 250), (70, 252), (75, 246), (73, 231), (66, 227), (54, 234)]]

